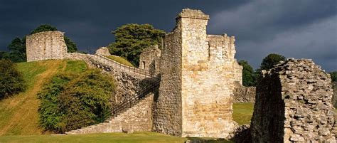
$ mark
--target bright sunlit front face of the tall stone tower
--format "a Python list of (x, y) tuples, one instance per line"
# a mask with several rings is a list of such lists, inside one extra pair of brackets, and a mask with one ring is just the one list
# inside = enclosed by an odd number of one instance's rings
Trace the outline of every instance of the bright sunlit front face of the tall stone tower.
[(234, 37), (206, 34), (209, 16), (184, 9), (182, 36), (182, 137), (221, 137), (233, 132)]

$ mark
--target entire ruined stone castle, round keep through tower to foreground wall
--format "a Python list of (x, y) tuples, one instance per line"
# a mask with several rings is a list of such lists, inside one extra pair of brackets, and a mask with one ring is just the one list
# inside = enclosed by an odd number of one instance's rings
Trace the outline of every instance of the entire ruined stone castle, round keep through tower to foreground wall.
[(60, 31), (28, 36), (27, 60), (85, 60), (114, 76), (112, 117), (66, 134), (154, 131), (228, 138), (237, 128), (232, 120), (233, 94), (247, 92), (249, 96), (236, 100), (256, 102), (250, 129), (253, 142), (333, 142), (337, 127), (326, 73), (310, 60), (290, 59), (264, 73), (252, 99), (255, 88), (238, 89), (242, 66), (235, 59), (235, 38), (207, 35), (208, 20), (202, 11), (183, 9), (161, 48), (150, 46), (141, 53), (139, 68), (105, 57), (107, 48), (94, 55), (67, 53)]

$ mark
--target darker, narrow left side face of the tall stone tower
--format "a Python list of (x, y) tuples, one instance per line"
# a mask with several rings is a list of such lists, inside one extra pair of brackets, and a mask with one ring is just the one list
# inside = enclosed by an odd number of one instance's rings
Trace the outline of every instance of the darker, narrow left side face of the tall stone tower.
[(154, 131), (181, 136), (181, 26), (164, 38), (161, 53), (161, 83), (155, 98)]

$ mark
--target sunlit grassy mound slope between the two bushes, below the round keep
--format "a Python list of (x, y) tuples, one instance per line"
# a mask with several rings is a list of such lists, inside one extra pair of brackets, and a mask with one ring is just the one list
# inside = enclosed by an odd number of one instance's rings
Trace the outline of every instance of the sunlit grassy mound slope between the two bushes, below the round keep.
[(43, 60), (18, 63), (18, 70), (28, 85), (25, 92), (0, 101), (0, 136), (42, 134), (38, 127), (38, 92), (44, 83), (61, 71), (80, 72), (86, 68), (82, 61)]

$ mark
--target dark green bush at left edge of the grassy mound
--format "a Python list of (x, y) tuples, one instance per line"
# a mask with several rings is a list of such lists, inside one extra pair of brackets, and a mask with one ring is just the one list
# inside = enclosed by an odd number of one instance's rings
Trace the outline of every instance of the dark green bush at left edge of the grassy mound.
[(25, 90), (22, 74), (11, 60), (0, 60), (0, 99)]

